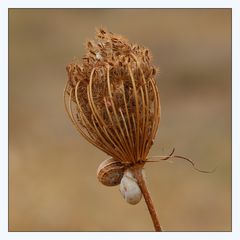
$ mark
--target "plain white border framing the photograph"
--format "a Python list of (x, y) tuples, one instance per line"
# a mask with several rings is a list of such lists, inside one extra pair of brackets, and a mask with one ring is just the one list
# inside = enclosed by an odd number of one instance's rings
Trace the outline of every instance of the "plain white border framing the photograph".
[[(231, 8), (232, 9), (232, 232), (9, 232), (8, 231), (8, 11), (11, 8)], [(8, 0), (0, 6), (0, 239), (240, 239), (240, 1), (238, 0)]]

